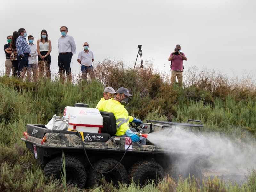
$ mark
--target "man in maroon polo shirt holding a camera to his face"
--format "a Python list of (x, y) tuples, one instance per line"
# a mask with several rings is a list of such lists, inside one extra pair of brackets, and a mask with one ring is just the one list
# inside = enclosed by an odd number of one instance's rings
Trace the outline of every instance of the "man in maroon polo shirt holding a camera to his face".
[(178, 79), (178, 83), (182, 84), (183, 78), (183, 60), (187, 60), (187, 57), (184, 53), (180, 52), (180, 45), (176, 45), (174, 52), (171, 53), (168, 61), (171, 61), (171, 85), (176, 81), (176, 77)]

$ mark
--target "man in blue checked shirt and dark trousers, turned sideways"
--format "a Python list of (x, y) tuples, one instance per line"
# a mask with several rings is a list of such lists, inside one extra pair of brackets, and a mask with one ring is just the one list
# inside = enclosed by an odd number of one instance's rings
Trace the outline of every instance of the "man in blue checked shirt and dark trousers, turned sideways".
[(30, 54), (30, 47), (26, 41), (27, 32), (25, 29), (20, 28), (18, 30), (19, 37), (16, 39), (17, 47), (17, 60), (18, 64), (18, 77), (23, 78), (28, 68), (28, 56)]

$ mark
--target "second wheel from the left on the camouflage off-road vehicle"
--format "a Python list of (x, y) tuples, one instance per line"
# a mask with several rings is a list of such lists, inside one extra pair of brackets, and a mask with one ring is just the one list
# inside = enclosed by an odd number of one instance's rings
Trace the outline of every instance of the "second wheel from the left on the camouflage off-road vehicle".
[[(100, 161), (96, 162), (92, 166), (95, 170), (98, 172), (108, 172), (111, 169), (113, 169), (119, 162), (114, 159), (101, 159)], [(124, 168), (124, 165), (121, 163), (111, 172), (106, 174), (100, 174), (90, 168), (90, 173), (88, 175), (89, 177), (89, 185), (102, 185), (101, 178), (102, 175), (105, 178), (105, 181), (107, 183), (113, 184), (113, 186), (118, 187), (118, 181), (123, 184), (128, 183), (128, 175)]]

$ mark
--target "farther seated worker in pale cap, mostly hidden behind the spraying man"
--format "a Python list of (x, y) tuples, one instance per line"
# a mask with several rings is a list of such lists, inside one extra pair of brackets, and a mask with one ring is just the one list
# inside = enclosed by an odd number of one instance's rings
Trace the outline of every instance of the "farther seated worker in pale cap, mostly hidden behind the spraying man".
[[(100, 99), (100, 101), (98, 102), (97, 106), (96, 106), (96, 109), (98, 108), (99, 104), (103, 101), (106, 101), (106, 100), (109, 100), (111, 98), (113, 98), (115, 96), (116, 92), (115, 90), (112, 88), (112, 87), (106, 87), (104, 89), (104, 92), (103, 92), (103, 97)], [(127, 104), (125, 106), (127, 106), (129, 103), (127, 102)], [(142, 124), (142, 121), (140, 121), (139, 119), (136, 119), (132, 116), (129, 116), (129, 122), (133, 122), (135, 123), (136, 125), (140, 125)], [(130, 130), (132, 130), (133, 132), (136, 132), (136, 129), (134, 128), (131, 128), (130, 127)]]

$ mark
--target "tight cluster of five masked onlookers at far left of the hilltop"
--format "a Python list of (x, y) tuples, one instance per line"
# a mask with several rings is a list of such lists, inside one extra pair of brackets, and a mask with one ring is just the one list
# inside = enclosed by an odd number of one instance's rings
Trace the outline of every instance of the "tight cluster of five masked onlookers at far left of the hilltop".
[(20, 28), (18, 32), (14, 31), (12, 36), (7, 37), (8, 44), (4, 45), (6, 56), (5, 75), (9, 76), (12, 70), (14, 77), (23, 78), (28, 70), (28, 80), (30, 80), (32, 70), (35, 80), (38, 75), (38, 68), (39, 75), (43, 76), (45, 66), (46, 75), (50, 78), (50, 52), (52, 51), (52, 45), (48, 39), (47, 31), (41, 31), (41, 39), (37, 41), (37, 45), (34, 44), (34, 37), (32, 35), (28, 36), (29, 43), (27, 43), (26, 37), (27, 32), (23, 28)]

